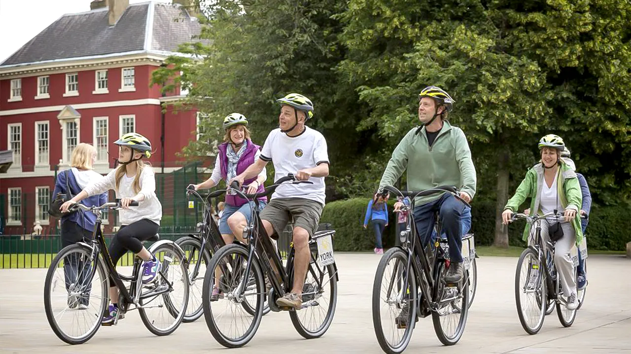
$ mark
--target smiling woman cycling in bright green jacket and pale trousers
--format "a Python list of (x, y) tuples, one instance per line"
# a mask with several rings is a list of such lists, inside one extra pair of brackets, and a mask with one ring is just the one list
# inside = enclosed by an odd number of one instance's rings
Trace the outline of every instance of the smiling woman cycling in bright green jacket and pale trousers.
[[(563, 218), (549, 217), (541, 221), (541, 237), (549, 239), (548, 229), (560, 222), (563, 229), (563, 237), (555, 245), (554, 260), (563, 294), (567, 297), (567, 308), (575, 310), (579, 302), (577, 300), (574, 263), (570, 256), (570, 250), (581, 243), (583, 237), (581, 231), (581, 217), (578, 213), (582, 205), (581, 186), (576, 173), (572, 171), (561, 157), (565, 148), (563, 139), (557, 135), (548, 134), (541, 138), (539, 149), (541, 150), (541, 163), (536, 164), (526, 173), (526, 178), (521, 181), (515, 195), (510, 198), (504, 207), (502, 220), (504, 224), (510, 222), (510, 214), (516, 212), (526, 198), (531, 197), (530, 215), (548, 214), (553, 210), (563, 213)], [(530, 224), (526, 224), (524, 241), (530, 234)], [(528, 241), (530, 241), (528, 239)], [(534, 279), (529, 280), (529, 283)]]

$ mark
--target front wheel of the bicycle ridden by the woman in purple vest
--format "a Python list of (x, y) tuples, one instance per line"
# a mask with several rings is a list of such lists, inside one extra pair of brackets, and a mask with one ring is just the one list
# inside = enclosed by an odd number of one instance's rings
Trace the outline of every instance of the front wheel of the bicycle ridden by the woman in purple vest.
[[(186, 306), (186, 314), (182, 322), (190, 323), (197, 321), (204, 314), (202, 305), (202, 292), (204, 285), (204, 275), (206, 274), (206, 266), (210, 263), (210, 254), (204, 249), (201, 251), (201, 242), (195, 237), (186, 236), (178, 239), (175, 243), (179, 244), (186, 258), (189, 261), (189, 302)], [(196, 264), (199, 263), (198, 271), (195, 271)]]

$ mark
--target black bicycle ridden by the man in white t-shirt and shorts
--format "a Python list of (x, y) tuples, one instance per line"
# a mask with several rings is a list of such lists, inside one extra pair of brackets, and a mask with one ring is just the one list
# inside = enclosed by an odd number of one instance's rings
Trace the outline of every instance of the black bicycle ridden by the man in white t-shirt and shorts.
[[(238, 348), (244, 346), (252, 340), (254, 334), (261, 324), (263, 303), (267, 297), (269, 309), (274, 312), (289, 311), (290, 319), (294, 328), (304, 338), (319, 338), (326, 333), (333, 322), (333, 315), (337, 304), (337, 294), (339, 280), (337, 266), (333, 257), (333, 235), (335, 231), (319, 231), (310, 237), (310, 263), (307, 270), (307, 277), (302, 290), (302, 308), (299, 316), (298, 311), (280, 308), (276, 305), (276, 300), (289, 292), (293, 285), (293, 259), (295, 250), (293, 243), (287, 256), (286, 266), (283, 266), (280, 253), (274, 248), (269, 239), (259, 216), (259, 204), (257, 198), (269, 197), (282, 183), (292, 181), (293, 183), (310, 183), (309, 181), (295, 181), (293, 174), (280, 178), (274, 185), (268, 186), (261, 193), (253, 195), (244, 194), (239, 190), (239, 185), (234, 182), (227, 190), (218, 190), (210, 193), (209, 196), (216, 197), (229, 190), (235, 191), (240, 197), (255, 202), (252, 208), (251, 222), (244, 229), (244, 237), (247, 235), (247, 244), (235, 241), (221, 248), (206, 268), (204, 277), (204, 317), (209, 331), (221, 345), (227, 348)], [(210, 301), (210, 295), (215, 284), (215, 269), (221, 270), (220, 288), (226, 296), (224, 301)], [(269, 290), (265, 289), (263, 276), (266, 275), (271, 283)], [(253, 292), (245, 292), (247, 288), (254, 285)], [(327, 289), (326, 289), (327, 288)], [(329, 294), (324, 294), (328, 290)], [(247, 300), (252, 305), (254, 315), (243, 316), (235, 314), (240, 309), (240, 302), (245, 297), (252, 297)], [(326, 302), (326, 309), (323, 304)], [(235, 318), (223, 319), (215, 318), (221, 312), (230, 312)], [(313, 324), (305, 324), (308, 319), (324, 314), (324, 319)], [(249, 315), (249, 314), (248, 314)], [(247, 320), (249, 324), (246, 323)], [(221, 325), (228, 323), (227, 331), (221, 329)], [(244, 333), (236, 333), (237, 326), (244, 328)], [(234, 333), (233, 333), (234, 332)]]

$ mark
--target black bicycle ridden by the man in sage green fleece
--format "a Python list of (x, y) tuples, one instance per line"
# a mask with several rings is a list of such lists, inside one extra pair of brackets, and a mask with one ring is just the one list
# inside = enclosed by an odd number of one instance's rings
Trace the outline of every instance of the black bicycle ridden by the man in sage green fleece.
[[(409, 212), (406, 229), (401, 232), (401, 239), (404, 242), (401, 243), (401, 246), (395, 246), (384, 253), (375, 273), (372, 290), (372, 322), (377, 341), (384, 352), (401, 353), (410, 343), (415, 327), (414, 323), (418, 322), (418, 317), (424, 318), (432, 314), (434, 331), (440, 342), (443, 345), (454, 345), (464, 333), (469, 313), (468, 263), (471, 253), (466, 251), (465, 244), (468, 246), (469, 240), (473, 240), (463, 239), (466, 269), (463, 279), (456, 284), (449, 284), (445, 281), (445, 274), (450, 264), (447, 240), (437, 239), (432, 243), (433, 250), (427, 251), (430, 253), (428, 256), (425, 251), (426, 246), (421, 245), (420, 237), (416, 234), (416, 224), (411, 210), (414, 208), (416, 197), (434, 193), (447, 192), (461, 200), (465, 205), (468, 203), (459, 197), (459, 191), (453, 186), (438, 186), (423, 191), (400, 191), (392, 186), (385, 186), (384, 191), (400, 195), (403, 198), (410, 197), (411, 204), (401, 208), (401, 211)], [(437, 230), (442, 230), (442, 222), (437, 217), (437, 213), (435, 216), (435, 227)], [(430, 246), (430, 248), (432, 247)], [(432, 259), (431, 263), (430, 258)], [(394, 260), (394, 269), (384, 279), (392, 260)], [(386, 285), (385, 289), (381, 288), (382, 284)], [(418, 296), (419, 288), (422, 296)], [(394, 314), (382, 313), (382, 305), (394, 307)], [(399, 314), (397, 315), (396, 312)], [(445, 318), (449, 323), (443, 322)], [(391, 335), (384, 333), (384, 322), (387, 319), (394, 319), (394, 326), (391, 326), (394, 329), (391, 331), (392, 333), (389, 333)], [(452, 323), (456, 323), (456, 328), (452, 331), (444, 328)], [(449, 332), (447, 333), (447, 331)], [(389, 338), (392, 338), (394, 343), (391, 343)]]

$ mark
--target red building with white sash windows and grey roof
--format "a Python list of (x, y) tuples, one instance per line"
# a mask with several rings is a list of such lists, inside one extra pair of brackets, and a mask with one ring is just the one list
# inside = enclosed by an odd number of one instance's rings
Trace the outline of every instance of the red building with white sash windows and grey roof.
[(0, 151), (13, 156), (0, 173), (3, 234), (30, 233), (36, 221), (50, 227), (56, 170), (68, 168), (80, 142), (97, 148), (95, 170), (105, 174), (118, 156), (112, 142), (139, 132), (155, 149), (156, 173), (170, 173), (196, 139), (196, 111), (168, 108), (186, 92), (163, 96), (150, 79), (199, 33), (198, 20), (179, 4), (107, 4), (62, 16), (0, 64)]

